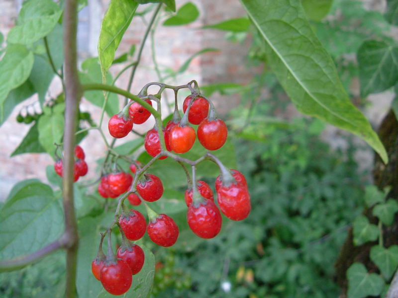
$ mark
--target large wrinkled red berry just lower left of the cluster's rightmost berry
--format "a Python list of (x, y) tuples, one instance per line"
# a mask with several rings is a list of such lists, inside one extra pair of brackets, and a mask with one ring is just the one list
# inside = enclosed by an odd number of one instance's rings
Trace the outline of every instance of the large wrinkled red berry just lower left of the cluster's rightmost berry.
[(192, 204), (188, 208), (187, 220), (192, 231), (201, 238), (213, 238), (221, 230), (221, 214), (211, 200), (200, 203), (198, 207)]

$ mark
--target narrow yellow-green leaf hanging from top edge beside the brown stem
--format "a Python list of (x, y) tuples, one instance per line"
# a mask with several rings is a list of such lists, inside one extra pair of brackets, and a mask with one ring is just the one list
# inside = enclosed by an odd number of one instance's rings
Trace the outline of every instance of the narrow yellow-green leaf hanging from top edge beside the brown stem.
[(98, 56), (100, 59), (103, 82), (112, 65), (115, 52), (124, 32), (130, 25), (138, 3), (131, 0), (111, 0), (102, 20), (100, 39), (98, 40)]

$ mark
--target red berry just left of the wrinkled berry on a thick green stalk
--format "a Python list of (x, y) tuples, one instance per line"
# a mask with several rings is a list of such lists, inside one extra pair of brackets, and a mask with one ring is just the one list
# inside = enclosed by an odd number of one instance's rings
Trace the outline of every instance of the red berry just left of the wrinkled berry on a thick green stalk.
[(119, 224), (129, 240), (138, 240), (145, 234), (146, 221), (137, 210), (131, 209), (131, 212), (126, 216), (121, 214)]

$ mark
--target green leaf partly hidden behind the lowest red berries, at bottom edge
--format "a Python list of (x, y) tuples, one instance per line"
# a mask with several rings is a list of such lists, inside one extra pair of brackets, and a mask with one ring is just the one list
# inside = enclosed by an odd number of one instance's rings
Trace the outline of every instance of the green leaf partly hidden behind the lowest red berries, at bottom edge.
[[(139, 244), (144, 250), (145, 262), (141, 271), (133, 276), (133, 283), (131, 284), (130, 290), (128, 290), (123, 298), (146, 298), (150, 295), (150, 291), (153, 285), (153, 278), (155, 276), (155, 257), (152, 252), (145, 246)], [(102, 290), (98, 298), (112, 298), (105, 290)]]

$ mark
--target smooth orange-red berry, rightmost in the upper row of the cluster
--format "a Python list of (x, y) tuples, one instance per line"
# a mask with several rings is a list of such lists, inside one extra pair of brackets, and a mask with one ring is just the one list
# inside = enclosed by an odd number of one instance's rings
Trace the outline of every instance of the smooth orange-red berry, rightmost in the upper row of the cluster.
[(220, 149), (224, 145), (227, 135), (227, 126), (221, 119), (209, 121), (206, 118), (199, 124), (198, 140), (207, 150)]

